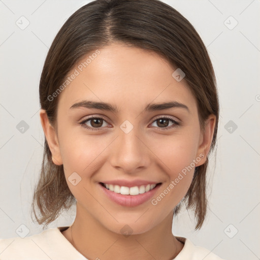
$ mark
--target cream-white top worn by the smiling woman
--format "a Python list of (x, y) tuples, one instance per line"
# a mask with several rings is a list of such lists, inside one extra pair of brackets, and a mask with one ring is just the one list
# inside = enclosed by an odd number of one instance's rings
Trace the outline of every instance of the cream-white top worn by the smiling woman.
[[(68, 226), (52, 228), (25, 238), (0, 239), (0, 260), (87, 260), (61, 234), (61, 231), (67, 228)], [(186, 238), (176, 238), (183, 242), (184, 246), (174, 260), (223, 260)]]

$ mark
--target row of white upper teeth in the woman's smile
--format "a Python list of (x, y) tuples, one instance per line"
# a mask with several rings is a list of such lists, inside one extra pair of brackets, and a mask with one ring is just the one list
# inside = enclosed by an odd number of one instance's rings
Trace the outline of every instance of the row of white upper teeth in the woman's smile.
[(140, 187), (134, 186), (134, 187), (125, 187), (125, 186), (119, 186), (119, 185), (113, 185), (113, 184), (105, 184), (106, 188), (114, 191), (116, 193), (121, 193), (123, 195), (138, 195), (145, 193), (151, 189), (153, 189), (156, 184), (148, 184), (148, 185), (141, 185)]

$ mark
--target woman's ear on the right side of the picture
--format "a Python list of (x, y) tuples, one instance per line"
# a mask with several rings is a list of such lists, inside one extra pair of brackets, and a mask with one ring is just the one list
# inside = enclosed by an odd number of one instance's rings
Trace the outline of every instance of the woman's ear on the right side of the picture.
[(207, 160), (207, 156), (210, 150), (214, 128), (216, 123), (216, 116), (211, 114), (206, 120), (205, 132), (200, 135), (199, 147), (197, 151), (197, 157), (202, 158), (198, 163), (196, 163), (196, 167), (203, 165)]

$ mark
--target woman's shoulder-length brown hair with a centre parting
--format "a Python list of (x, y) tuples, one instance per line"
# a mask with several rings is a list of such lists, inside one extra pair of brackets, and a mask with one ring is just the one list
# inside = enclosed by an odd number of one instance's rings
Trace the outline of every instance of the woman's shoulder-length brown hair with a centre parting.
[[(40, 80), (40, 104), (55, 126), (58, 98), (48, 98), (62, 84), (76, 62), (98, 48), (118, 42), (147, 49), (162, 55), (185, 73), (190, 90), (197, 100), (201, 130), (210, 114), (216, 124), (210, 152), (215, 147), (219, 104), (213, 67), (196, 29), (178, 11), (158, 0), (97, 0), (77, 10), (60, 28), (46, 57)], [(206, 163), (196, 167), (183, 203), (193, 209), (200, 229), (207, 213)], [(76, 202), (63, 172), (53, 164), (45, 138), (42, 169), (34, 190), (32, 209), (39, 224), (54, 221), (62, 209)], [(40, 210), (37, 216), (36, 207)]]

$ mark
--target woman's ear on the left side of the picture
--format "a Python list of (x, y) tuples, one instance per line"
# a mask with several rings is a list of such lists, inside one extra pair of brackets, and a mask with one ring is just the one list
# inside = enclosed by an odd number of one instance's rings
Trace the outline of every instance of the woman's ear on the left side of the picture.
[(55, 165), (62, 165), (62, 158), (55, 128), (50, 124), (46, 110), (40, 110), (41, 124)]

